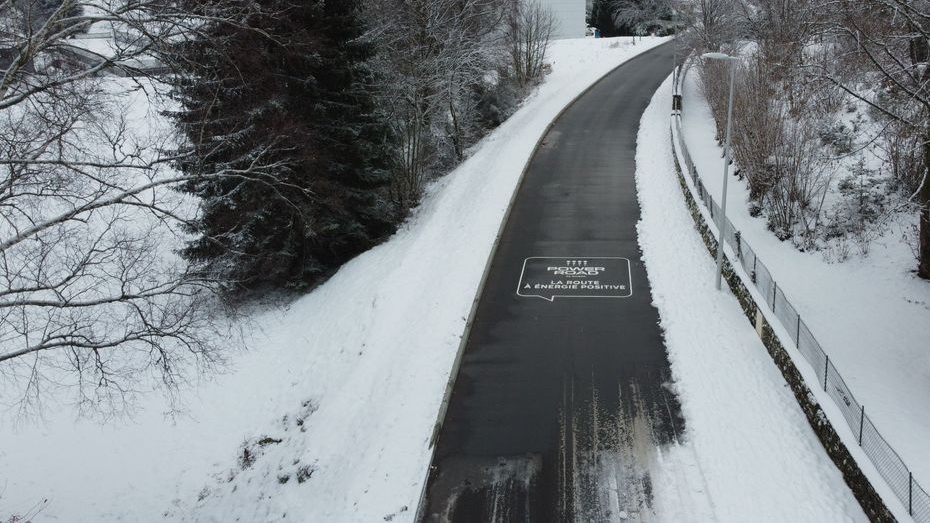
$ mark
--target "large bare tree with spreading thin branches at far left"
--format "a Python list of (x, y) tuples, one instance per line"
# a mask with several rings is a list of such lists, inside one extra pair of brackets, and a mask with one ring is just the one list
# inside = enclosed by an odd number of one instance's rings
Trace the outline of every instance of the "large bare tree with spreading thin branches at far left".
[(214, 282), (172, 252), (196, 205), (171, 189), (189, 178), (173, 132), (138, 113), (164, 88), (139, 75), (220, 11), (46, 5), (0, 1), (0, 402), (31, 412), (66, 389), (109, 414), (221, 361)]

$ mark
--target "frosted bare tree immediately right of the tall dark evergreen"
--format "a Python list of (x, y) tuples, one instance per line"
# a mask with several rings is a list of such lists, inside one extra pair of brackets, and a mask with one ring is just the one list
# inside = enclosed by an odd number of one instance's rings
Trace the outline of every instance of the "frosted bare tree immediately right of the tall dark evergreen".
[[(510, 0), (382, 0), (377, 68), (383, 108), (400, 137), (393, 199), (401, 212), (423, 187), (461, 161), (481, 134), (476, 93), (503, 64), (503, 23)], [(490, 80), (496, 82), (497, 79)]]

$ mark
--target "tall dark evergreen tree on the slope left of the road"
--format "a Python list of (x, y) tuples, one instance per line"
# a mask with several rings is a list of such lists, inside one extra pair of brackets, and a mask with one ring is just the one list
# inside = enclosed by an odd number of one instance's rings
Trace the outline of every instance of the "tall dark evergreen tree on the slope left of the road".
[(202, 204), (183, 254), (230, 291), (304, 287), (393, 231), (373, 50), (356, 0), (243, 2), (178, 49), (179, 167)]

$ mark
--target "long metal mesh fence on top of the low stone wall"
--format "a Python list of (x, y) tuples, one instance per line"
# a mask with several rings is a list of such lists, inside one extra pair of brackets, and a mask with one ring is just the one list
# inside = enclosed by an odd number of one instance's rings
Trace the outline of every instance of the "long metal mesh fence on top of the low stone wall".
[[(681, 77), (685, 76), (687, 72), (688, 68), (685, 68), (684, 72), (679, 75), (678, 86), (676, 86), (679, 93), (679, 86), (683, 84)], [(697, 168), (691, 160), (691, 155), (682, 134), (680, 114), (673, 120), (678, 131), (677, 145), (684, 157), (689, 177), (693, 182), (695, 199), (703, 202), (719, 231), (720, 207), (704, 187), (700, 176), (698, 176)], [(743, 270), (749, 275), (752, 285), (765, 297), (766, 305), (775, 313), (782, 327), (791, 336), (795, 346), (820, 377), (820, 383), (817, 386), (823, 388), (839, 407), (852, 433), (857, 436), (859, 446), (882, 477), (885, 478), (891, 490), (904, 504), (904, 508), (914, 518), (914, 521), (930, 523), (930, 495), (917, 483), (913, 473), (907, 468), (898, 453), (891, 448), (891, 445), (875, 428), (872, 420), (869, 419), (868, 414), (865, 412), (865, 406), (856, 401), (855, 396), (846, 386), (843, 377), (833, 365), (833, 362), (830, 361), (830, 356), (824, 352), (797, 310), (791, 305), (788, 297), (778, 287), (772, 273), (762, 263), (762, 260), (756, 256), (755, 251), (752, 250), (752, 247), (749, 246), (749, 243), (746, 242), (729, 219), (727, 220), (726, 231), (726, 243), (733, 250), (734, 256)], [(730, 256), (728, 256), (728, 259), (733, 262)], [(750, 282), (744, 283), (747, 286), (750, 284)], [(811, 385), (808, 384), (808, 386)]]

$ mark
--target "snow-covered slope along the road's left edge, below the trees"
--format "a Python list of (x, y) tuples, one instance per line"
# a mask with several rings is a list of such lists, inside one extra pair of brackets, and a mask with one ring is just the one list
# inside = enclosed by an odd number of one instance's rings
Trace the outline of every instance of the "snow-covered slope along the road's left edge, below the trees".
[(107, 425), (67, 408), (0, 413), (0, 520), (34, 506), (39, 520), (78, 523), (412, 520), (466, 316), (537, 140), (585, 88), (663, 41), (554, 43), (543, 85), (401, 231), (286, 309), (244, 320), (250, 350), (181, 391), (184, 412), (147, 396)]

